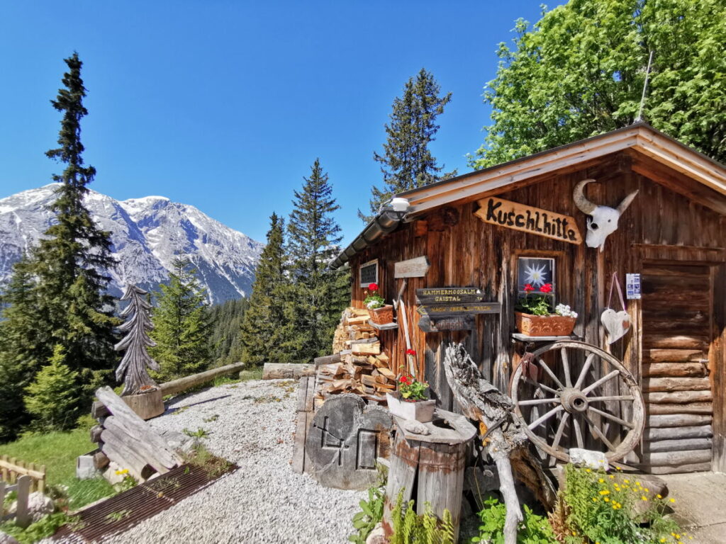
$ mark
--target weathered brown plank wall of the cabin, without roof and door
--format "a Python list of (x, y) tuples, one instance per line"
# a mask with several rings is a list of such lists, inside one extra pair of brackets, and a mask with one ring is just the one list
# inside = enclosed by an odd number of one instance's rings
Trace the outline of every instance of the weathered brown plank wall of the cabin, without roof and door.
[[(651, 174), (652, 172), (652, 174)], [(648, 174), (646, 177), (644, 174)], [(473, 213), (476, 200), (436, 208), (428, 215), (407, 223), (373, 247), (351, 259), (353, 303), (362, 307), (364, 289), (359, 287), (358, 265), (378, 258), (379, 284), (387, 300), (399, 292), (403, 280), (393, 279), (397, 261), (426, 255), (431, 268), (424, 278), (408, 279), (404, 292), (409, 332), (417, 350), (418, 365), (431, 384), (442, 408), (455, 409), (441, 366), (443, 345), (462, 341), (485, 376), (507, 389), (513, 358), (511, 333), (515, 331), (516, 262), (521, 256), (555, 257), (558, 302), (579, 313), (574, 333), (585, 342), (608, 349), (600, 328), (611, 274), (617, 272), (624, 284), (625, 274), (637, 273), (644, 263), (706, 263), (711, 270), (714, 292), (713, 319), (709, 323), (709, 365), (714, 389), (714, 466), (726, 463), (725, 385), (722, 343), (724, 334), (724, 261), (726, 221), (723, 215), (695, 202), (703, 202), (702, 187), (689, 178), (665, 172), (648, 159), (621, 153), (582, 170), (539, 178), (536, 183), (519, 184), (517, 189), (497, 193), (498, 197), (525, 205), (572, 215), (584, 237), (586, 216), (574, 205), (572, 191), (583, 178), (599, 183), (587, 186), (587, 197), (597, 204), (616, 206), (629, 192), (640, 191), (620, 218), (618, 230), (608, 236), (605, 250), (598, 252), (584, 244), (574, 245), (525, 234), (480, 221)], [(685, 194), (697, 194), (690, 199)], [(478, 198), (492, 195), (478, 195)], [(418, 329), (415, 290), (422, 287), (476, 286), (485, 300), (502, 303), (499, 316), (478, 316), (475, 331), (425, 334)], [(643, 353), (642, 301), (628, 301), (632, 332), (609, 347), (624, 360), (637, 379), (642, 379)], [(399, 320), (400, 323), (400, 320)], [(391, 358), (391, 369), (404, 363), (405, 339), (401, 329), (385, 331), (381, 341)], [(646, 348), (649, 349), (649, 348)]]

